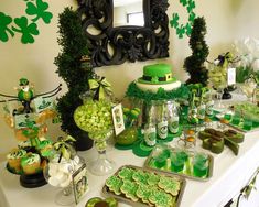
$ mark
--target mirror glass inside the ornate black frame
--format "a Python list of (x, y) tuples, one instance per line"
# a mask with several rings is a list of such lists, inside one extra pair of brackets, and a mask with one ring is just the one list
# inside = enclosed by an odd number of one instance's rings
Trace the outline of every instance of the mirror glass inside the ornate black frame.
[(121, 25), (144, 26), (142, 0), (114, 0), (114, 28)]

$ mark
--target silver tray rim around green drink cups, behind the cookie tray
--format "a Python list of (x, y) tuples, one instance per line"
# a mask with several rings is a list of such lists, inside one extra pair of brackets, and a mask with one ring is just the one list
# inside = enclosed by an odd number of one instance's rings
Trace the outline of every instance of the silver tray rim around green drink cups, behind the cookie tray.
[[(168, 146), (168, 148), (170, 150), (173, 150), (173, 148), (171, 148), (171, 146)], [(190, 178), (190, 179), (194, 179), (194, 181), (199, 181), (199, 182), (206, 182), (206, 181), (208, 181), (213, 176), (214, 159), (208, 153), (203, 152), (204, 154), (208, 155), (208, 173), (207, 173), (207, 176), (206, 177), (196, 177), (196, 176), (184, 174), (184, 173), (175, 173), (175, 172), (172, 172), (172, 171), (154, 168), (154, 167), (149, 166), (149, 163), (150, 163), (150, 161), (152, 159), (153, 152), (154, 152), (154, 150), (150, 153), (150, 155), (145, 160), (144, 168), (152, 170), (154, 172), (162, 172), (162, 173), (168, 174), (168, 175), (177, 175), (177, 176), (182, 176), (182, 177), (185, 177), (185, 178)]]

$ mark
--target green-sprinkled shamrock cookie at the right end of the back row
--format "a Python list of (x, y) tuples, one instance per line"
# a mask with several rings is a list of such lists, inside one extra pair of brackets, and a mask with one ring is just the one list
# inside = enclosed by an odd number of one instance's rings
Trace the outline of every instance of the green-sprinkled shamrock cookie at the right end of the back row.
[(170, 193), (173, 196), (177, 196), (181, 184), (176, 178), (161, 176), (158, 186)]

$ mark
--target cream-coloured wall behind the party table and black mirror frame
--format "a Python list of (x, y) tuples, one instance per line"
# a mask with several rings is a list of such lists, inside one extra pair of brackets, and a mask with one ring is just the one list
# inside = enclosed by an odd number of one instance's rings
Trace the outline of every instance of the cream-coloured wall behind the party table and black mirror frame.
[[(34, 83), (37, 92), (50, 90), (58, 83), (63, 83), (55, 73), (56, 66), (53, 64), (54, 57), (60, 52), (56, 42), (58, 36), (57, 15), (64, 7), (75, 6), (75, 1), (48, 0), (47, 2), (54, 18), (50, 25), (43, 23), (39, 25), (41, 34), (36, 36), (34, 44), (23, 45), (17, 37), (8, 43), (0, 42), (0, 92), (15, 95), (13, 86), (18, 86), (21, 77), (28, 77)], [(186, 17), (186, 12), (180, 8), (180, 3), (173, 0), (169, 2), (171, 4), (168, 10), (170, 19), (173, 12), (180, 12), (180, 15)], [(258, 0), (196, 0), (196, 14), (204, 15), (206, 19), (208, 30), (206, 42), (211, 48), (211, 59), (219, 53), (231, 50), (231, 43), (235, 39), (246, 36), (259, 39)], [(0, 0), (0, 11), (12, 17), (20, 17), (24, 12), (23, 8), (24, 1), (22, 0)], [(169, 58), (101, 67), (96, 72), (108, 78), (118, 98), (123, 97), (130, 81), (142, 75), (142, 67), (147, 64), (170, 63), (173, 65), (175, 76), (184, 80), (186, 74), (182, 65), (184, 58), (191, 53), (188, 40), (186, 37), (177, 39), (175, 30), (171, 28), (170, 33)], [(51, 127), (50, 131), (53, 137), (60, 133), (57, 126)], [(15, 143), (12, 131), (0, 119), (0, 154), (8, 152)]]

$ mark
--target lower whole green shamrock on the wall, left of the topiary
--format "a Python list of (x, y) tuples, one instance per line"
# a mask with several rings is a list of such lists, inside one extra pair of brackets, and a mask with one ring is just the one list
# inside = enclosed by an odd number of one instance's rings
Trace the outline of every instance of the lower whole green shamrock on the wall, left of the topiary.
[(14, 23), (20, 28), (17, 29), (14, 26), (12, 26), (12, 30), (14, 32), (20, 32), (22, 33), (22, 37), (21, 41), (26, 44), (26, 43), (33, 43), (34, 42), (34, 37), (33, 35), (39, 35), (40, 32), (37, 30), (37, 25), (35, 23), (28, 23), (28, 19), (25, 17), (21, 17), (21, 18), (15, 18), (14, 19)]

